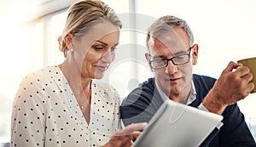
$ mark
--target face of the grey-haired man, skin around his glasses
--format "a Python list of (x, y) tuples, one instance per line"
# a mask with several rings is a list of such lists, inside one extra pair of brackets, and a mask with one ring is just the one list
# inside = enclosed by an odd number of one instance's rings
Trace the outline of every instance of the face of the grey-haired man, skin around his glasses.
[[(189, 54), (189, 37), (181, 28), (175, 28), (160, 37), (148, 41), (150, 60), (170, 59), (181, 54)], [(173, 65), (169, 60), (166, 68), (154, 71), (155, 80), (170, 99), (187, 99), (192, 82), (192, 66), (196, 64), (197, 45), (191, 50), (189, 63)]]

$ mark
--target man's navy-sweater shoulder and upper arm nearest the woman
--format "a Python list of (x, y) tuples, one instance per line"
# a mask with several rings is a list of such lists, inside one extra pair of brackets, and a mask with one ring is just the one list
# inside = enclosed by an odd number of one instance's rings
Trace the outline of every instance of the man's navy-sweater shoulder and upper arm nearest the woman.
[(128, 94), (120, 106), (120, 116), (125, 126), (135, 122), (149, 122), (160, 105), (159, 93), (154, 88), (154, 77), (148, 78)]

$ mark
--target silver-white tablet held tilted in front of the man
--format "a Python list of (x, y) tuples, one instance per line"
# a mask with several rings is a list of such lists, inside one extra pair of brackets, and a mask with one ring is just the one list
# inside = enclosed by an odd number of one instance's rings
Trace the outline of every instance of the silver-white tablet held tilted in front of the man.
[(167, 99), (132, 147), (199, 146), (223, 116)]

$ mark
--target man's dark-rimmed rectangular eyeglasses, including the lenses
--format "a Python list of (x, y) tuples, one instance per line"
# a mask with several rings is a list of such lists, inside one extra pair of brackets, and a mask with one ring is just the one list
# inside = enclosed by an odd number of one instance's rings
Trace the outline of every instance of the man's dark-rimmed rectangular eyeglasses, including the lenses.
[(189, 48), (189, 53), (188, 54), (177, 55), (177, 56), (174, 56), (170, 59), (162, 58), (162, 59), (150, 60), (150, 56), (149, 56), (149, 65), (151, 66), (152, 69), (158, 70), (158, 69), (161, 69), (161, 68), (166, 68), (170, 60), (172, 61), (173, 65), (184, 65), (186, 63), (189, 63), (190, 52), (191, 52), (193, 47)]

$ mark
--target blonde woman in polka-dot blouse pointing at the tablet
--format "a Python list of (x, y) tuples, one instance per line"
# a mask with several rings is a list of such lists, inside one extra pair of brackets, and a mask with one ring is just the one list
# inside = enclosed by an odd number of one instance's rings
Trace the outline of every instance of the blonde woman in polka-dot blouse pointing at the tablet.
[(28, 74), (16, 94), (12, 146), (131, 146), (135, 124), (119, 130), (119, 93), (101, 79), (119, 43), (119, 21), (100, 1), (74, 3), (59, 38), (61, 65)]

